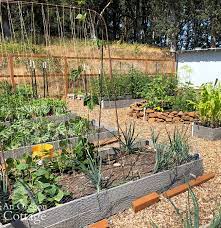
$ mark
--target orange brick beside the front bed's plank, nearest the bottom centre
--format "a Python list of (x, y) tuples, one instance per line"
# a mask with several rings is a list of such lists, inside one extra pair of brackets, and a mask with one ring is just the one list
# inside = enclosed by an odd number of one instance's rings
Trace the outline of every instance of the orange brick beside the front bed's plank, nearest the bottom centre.
[(149, 195), (143, 196), (139, 199), (136, 199), (132, 202), (132, 207), (135, 213), (140, 210), (143, 210), (146, 207), (151, 206), (160, 201), (160, 195), (156, 192), (153, 192)]

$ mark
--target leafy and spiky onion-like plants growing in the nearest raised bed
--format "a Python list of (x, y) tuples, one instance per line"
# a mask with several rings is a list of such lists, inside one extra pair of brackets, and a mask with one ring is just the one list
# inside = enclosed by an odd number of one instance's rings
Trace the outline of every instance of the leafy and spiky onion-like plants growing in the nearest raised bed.
[[(136, 147), (137, 135), (134, 124), (129, 125), (126, 131), (121, 131), (121, 133), (123, 136), (119, 138), (120, 148), (115, 150), (115, 159), (118, 157), (118, 160), (121, 161), (125, 155), (134, 156), (140, 153), (146, 153), (149, 156), (149, 152)], [(20, 213), (30, 215), (41, 211), (41, 205), (51, 208), (73, 200), (75, 195), (69, 192), (66, 186), (62, 186), (59, 179), (63, 175), (72, 175), (74, 172), (83, 173), (90, 180), (95, 191), (99, 192), (112, 187), (109, 183), (110, 177), (103, 173), (108, 161), (100, 155), (92, 143), (88, 142), (84, 134), (84, 131), (80, 129), (79, 141), (75, 147), (70, 147), (68, 140), (62, 141), (61, 150), (55, 152), (53, 158), (41, 159), (24, 155), (20, 159), (7, 159), (4, 165), (6, 168), (1, 169), (2, 175), (0, 175), (4, 177), (0, 180), (1, 188), (4, 189), (0, 194), (1, 205), (7, 202), (12, 204), (13, 208), (19, 209)], [(198, 159), (191, 154), (185, 134), (178, 129), (175, 129), (172, 135), (168, 133), (169, 144), (166, 143), (167, 146), (164, 146), (162, 151), (158, 150), (160, 147), (158, 137), (159, 134), (155, 134), (153, 131), (153, 152), (156, 154), (153, 173), (174, 169), (177, 165)], [(129, 173), (132, 172), (135, 165), (134, 161), (132, 163)], [(130, 180), (128, 173), (124, 173), (124, 175), (124, 182)], [(122, 181), (119, 184), (122, 184)], [(23, 206), (21, 208), (18, 205)], [(7, 208), (1, 207), (1, 210), (4, 214), (4, 210)], [(18, 212), (16, 211), (16, 213)], [(7, 221), (4, 219), (1, 218), (2, 223), (9, 221), (7, 218)]]

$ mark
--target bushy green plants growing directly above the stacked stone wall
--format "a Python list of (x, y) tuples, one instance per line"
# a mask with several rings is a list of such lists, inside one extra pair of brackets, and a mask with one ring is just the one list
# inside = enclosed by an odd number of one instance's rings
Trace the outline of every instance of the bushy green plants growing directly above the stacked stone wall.
[(146, 107), (159, 111), (194, 111), (198, 92), (190, 82), (179, 83), (174, 76), (152, 77), (140, 96), (147, 100)]

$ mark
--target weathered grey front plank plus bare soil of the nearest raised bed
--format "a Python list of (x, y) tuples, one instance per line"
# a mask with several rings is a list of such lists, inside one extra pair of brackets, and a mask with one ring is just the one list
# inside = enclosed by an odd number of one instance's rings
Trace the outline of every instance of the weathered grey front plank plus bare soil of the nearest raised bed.
[(78, 171), (59, 174), (63, 188), (72, 193), (72, 201), (2, 227), (85, 227), (129, 208), (136, 198), (164, 192), (203, 174), (200, 157), (192, 157), (171, 170), (153, 173), (155, 151), (147, 141), (138, 142), (134, 148), (138, 150), (132, 154), (119, 155), (113, 148), (99, 151), (106, 184), (103, 190), (96, 192), (90, 179)]

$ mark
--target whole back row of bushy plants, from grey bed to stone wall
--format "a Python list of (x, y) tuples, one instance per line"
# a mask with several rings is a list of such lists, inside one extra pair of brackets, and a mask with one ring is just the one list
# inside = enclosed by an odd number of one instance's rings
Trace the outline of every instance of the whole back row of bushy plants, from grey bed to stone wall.
[(115, 75), (90, 81), (90, 92), (97, 98), (143, 98), (147, 108), (157, 110), (194, 111), (198, 92), (191, 83), (179, 83), (174, 75), (150, 76), (134, 69), (126, 75)]

